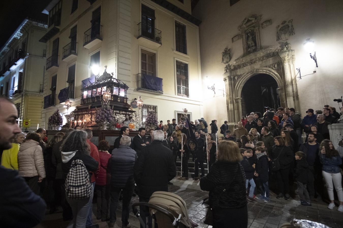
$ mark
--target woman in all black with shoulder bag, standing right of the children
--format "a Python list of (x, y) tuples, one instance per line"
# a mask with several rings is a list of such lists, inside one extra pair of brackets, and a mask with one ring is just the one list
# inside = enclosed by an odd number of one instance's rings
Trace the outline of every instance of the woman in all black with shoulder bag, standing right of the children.
[(289, 171), (294, 159), (294, 153), (290, 147), (285, 146), (285, 140), (281, 136), (276, 136), (274, 143), (275, 145), (272, 147), (269, 157), (271, 160), (279, 157), (280, 169), (276, 171), (279, 194), (276, 198), (281, 199), (284, 197), (285, 200), (289, 200)]

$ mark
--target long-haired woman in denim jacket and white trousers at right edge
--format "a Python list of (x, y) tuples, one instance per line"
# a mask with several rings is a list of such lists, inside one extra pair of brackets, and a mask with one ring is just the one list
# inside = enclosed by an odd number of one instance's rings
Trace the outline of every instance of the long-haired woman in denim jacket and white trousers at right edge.
[[(343, 212), (343, 190), (342, 190), (342, 174), (340, 165), (342, 164), (342, 158), (340, 157), (337, 150), (332, 145), (329, 139), (324, 139), (319, 148), (320, 151), (320, 162), (322, 166), (322, 174), (326, 182), (328, 194), (330, 198), (329, 209), (333, 209), (335, 206), (333, 186), (335, 186), (340, 206), (337, 211)], [(332, 184), (333, 183), (333, 184)]]

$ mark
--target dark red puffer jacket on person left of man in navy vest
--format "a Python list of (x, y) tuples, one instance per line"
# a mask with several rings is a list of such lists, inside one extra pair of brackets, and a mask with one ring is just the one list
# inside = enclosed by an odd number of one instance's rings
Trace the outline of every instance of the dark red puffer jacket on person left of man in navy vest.
[(99, 151), (100, 169), (96, 174), (95, 185), (109, 185), (111, 183), (111, 154), (106, 151)]

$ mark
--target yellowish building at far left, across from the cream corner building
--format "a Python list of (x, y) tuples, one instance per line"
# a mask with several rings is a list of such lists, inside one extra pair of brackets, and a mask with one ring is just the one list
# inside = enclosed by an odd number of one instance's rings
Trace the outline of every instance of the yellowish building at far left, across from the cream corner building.
[[(17, 107), (23, 131), (42, 122), (43, 77), (46, 45), (39, 39), (47, 32), (47, 17), (26, 18), (0, 50), (0, 94)], [(27, 122), (23, 126), (23, 120)]]

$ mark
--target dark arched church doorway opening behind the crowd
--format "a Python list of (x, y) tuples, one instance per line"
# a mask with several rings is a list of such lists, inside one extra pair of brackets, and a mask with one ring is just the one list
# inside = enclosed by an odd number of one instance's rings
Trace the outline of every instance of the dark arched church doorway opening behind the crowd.
[(280, 96), (277, 92), (276, 80), (267, 74), (259, 74), (251, 77), (243, 86), (242, 115), (250, 112), (261, 112), (262, 115), (266, 108), (280, 107)]

